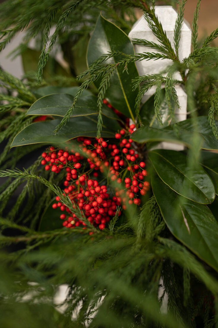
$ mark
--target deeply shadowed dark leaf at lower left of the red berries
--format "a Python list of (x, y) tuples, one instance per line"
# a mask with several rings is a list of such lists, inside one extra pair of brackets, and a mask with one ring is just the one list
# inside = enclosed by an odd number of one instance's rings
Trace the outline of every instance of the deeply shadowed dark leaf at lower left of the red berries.
[(54, 203), (57, 203), (55, 198), (50, 201), (49, 205), (45, 209), (40, 221), (39, 231), (55, 230), (63, 227), (63, 220), (60, 219), (60, 215), (63, 214), (63, 212), (59, 207), (53, 209), (52, 204)]

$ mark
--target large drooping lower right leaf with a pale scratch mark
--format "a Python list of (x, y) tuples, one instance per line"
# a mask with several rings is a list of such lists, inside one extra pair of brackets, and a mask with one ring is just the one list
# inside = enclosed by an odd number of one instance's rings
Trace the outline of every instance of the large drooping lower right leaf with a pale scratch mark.
[(218, 271), (218, 223), (208, 207), (179, 196), (157, 175), (151, 185), (170, 232)]

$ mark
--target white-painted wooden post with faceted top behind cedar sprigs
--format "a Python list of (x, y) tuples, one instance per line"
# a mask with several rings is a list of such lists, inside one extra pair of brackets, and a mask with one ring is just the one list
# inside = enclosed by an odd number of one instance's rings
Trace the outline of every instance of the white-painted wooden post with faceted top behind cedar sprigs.
[[(177, 12), (172, 8), (172, 6), (155, 6), (155, 15), (158, 20), (161, 22), (163, 29), (166, 31), (167, 37), (171, 42), (172, 47), (174, 48), (174, 27), (177, 18)], [(147, 41), (152, 41), (160, 44), (156, 36), (153, 34), (151, 29), (148, 26), (147, 21), (144, 16), (139, 18), (137, 22), (133, 25), (131, 31), (129, 32), (129, 38), (132, 39), (145, 39)], [(135, 45), (135, 53), (142, 52), (158, 52), (155, 49)], [(179, 59), (182, 61), (185, 57), (188, 57), (191, 50), (191, 30), (186, 22), (183, 22), (181, 29), (181, 38), (179, 42)], [(158, 74), (165, 70), (168, 66), (172, 64), (170, 59), (158, 59), (158, 60), (142, 60), (136, 61), (136, 67), (138, 69), (139, 75), (147, 74)], [(179, 73), (176, 73), (174, 77), (177, 80), (181, 80)], [(163, 85), (164, 87), (164, 85)], [(175, 86), (180, 109), (175, 110), (176, 121), (183, 121), (187, 118), (187, 94), (183, 88), (179, 85)], [(142, 98), (142, 103), (144, 103), (153, 93), (155, 92), (155, 87), (149, 89)], [(158, 145), (158, 148), (172, 149), (172, 150), (183, 150), (184, 147), (178, 144), (172, 144), (168, 142), (162, 142)]]

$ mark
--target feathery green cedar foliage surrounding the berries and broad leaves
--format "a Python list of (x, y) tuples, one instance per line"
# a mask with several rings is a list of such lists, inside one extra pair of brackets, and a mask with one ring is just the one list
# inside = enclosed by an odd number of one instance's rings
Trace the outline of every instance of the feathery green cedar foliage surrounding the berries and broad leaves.
[[(163, 3), (171, 4), (171, 1)], [(127, 213), (127, 220), (121, 225), (116, 225), (115, 216), (109, 229), (96, 230), (92, 238), (80, 228), (40, 232), (40, 217), (47, 204), (54, 195), (63, 198), (59, 187), (63, 177), (61, 174), (49, 176), (48, 172), (39, 169), (40, 158), (26, 169), (15, 169), (20, 159), (37, 153), (37, 149), (41, 148), (39, 144), (10, 151), (14, 136), (34, 118), (25, 116), (36, 100), (33, 87), (37, 88), (37, 83), (42, 86), (58, 81), (57, 77), (46, 81), (42, 76), (55, 42), (64, 44), (69, 41), (74, 47), (80, 47), (81, 40), (85, 40), (93, 30), (100, 11), (128, 32), (135, 20), (134, 8), (144, 10), (145, 18), (160, 44), (136, 39), (135, 44), (149, 46), (154, 52), (135, 55), (111, 52), (96, 60), (79, 75), (78, 80), (82, 82), (74, 103), (55, 131), (67, 123), (81, 93), (99, 76), (104, 76), (98, 93), (97, 133), (100, 135), (102, 99), (117, 65), (104, 62), (120, 55), (123, 61), (119, 65), (123, 65), (124, 70), (128, 70), (129, 62), (136, 60), (169, 58), (173, 61), (170, 70), (163, 74), (139, 76), (133, 80), (135, 90), (140, 86), (136, 99), (139, 124), (142, 124), (139, 113), (142, 96), (153, 85), (157, 86), (155, 114), (162, 124), (162, 83), (165, 83), (166, 101), (173, 119), (174, 109), (179, 106), (175, 92), (177, 81), (173, 79), (173, 73), (179, 71), (182, 76), (180, 83), (188, 94), (188, 110), (193, 112), (197, 108), (199, 113), (208, 115), (212, 131), (218, 137), (214, 118), (218, 114), (218, 51), (209, 47), (218, 32), (212, 32), (202, 48), (198, 48), (198, 1), (192, 24), (193, 51), (180, 63), (178, 46), (185, 3), (186, 0), (182, 0), (179, 4), (174, 31), (175, 51), (154, 15), (154, 1), (48, 0), (46, 10), (45, 2), (41, 0), (23, 0), (22, 5), (20, 1), (8, 0), (1, 4), (0, 49), (4, 49), (11, 38), (25, 28), (23, 44), (16, 51), (25, 51), (30, 39), (39, 35), (42, 45), (37, 79), (31, 75), (20, 81), (0, 70), (0, 141), (5, 140), (0, 155), (0, 177), (6, 178), (0, 195), (2, 327), (218, 327), (217, 273), (170, 234), (154, 196), (151, 195), (138, 215)], [(126, 20), (126, 14), (129, 20)], [(55, 32), (49, 39), (52, 26), (55, 26)], [(62, 77), (58, 83), (68, 86)], [(22, 191), (12, 208), (4, 211), (21, 184)], [(164, 286), (163, 295), (160, 295), (160, 281)], [(68, 294), (63, 304), (57, 305), (54, 296), (62, 284), (69, 286)], [(161, 310), (165, 295), (168, 296), (167, 312)], [(73, 319), (72, 313), (76, 313)]]

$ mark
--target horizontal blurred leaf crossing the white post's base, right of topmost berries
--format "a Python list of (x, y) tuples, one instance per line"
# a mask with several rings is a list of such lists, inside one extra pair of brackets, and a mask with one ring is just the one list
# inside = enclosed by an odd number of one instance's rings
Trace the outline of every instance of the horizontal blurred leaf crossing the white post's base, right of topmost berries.
[[(193, 132), (189, 131), (179, 131), (176, 133), (172, 129), (166, 130), (146, 126), (133, 132), (131, 134), (131, 139), (139, 143), (167, 141), (182, 144), (191, 148), (193, 135)], [(203, 138), (199, 134), (196, 134), (196, 138), (198, 138), (200, 145), (203, 144)]]

